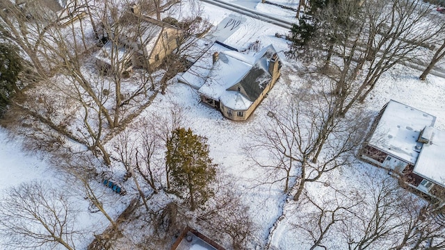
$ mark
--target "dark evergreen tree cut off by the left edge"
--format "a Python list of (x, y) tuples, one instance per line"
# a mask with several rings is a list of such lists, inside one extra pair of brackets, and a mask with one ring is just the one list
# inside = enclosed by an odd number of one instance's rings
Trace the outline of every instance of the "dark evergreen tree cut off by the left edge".
[(10, 99), (19, 91), (17, 81), (22, 72), (22, 58), (17, 48), (10, 44), (0, 43), (0, 117), (10, 103)]

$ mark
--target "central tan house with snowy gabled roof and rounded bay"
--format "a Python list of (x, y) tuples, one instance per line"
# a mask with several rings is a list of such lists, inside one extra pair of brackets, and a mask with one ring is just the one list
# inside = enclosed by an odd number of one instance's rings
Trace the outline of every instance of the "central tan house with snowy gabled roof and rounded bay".
[(201, 100), (229, 119), (248, 119), (280, 77), (282, 63), (272, 45), (253, 56), (213, 53), (213, 66), (198, 90)]

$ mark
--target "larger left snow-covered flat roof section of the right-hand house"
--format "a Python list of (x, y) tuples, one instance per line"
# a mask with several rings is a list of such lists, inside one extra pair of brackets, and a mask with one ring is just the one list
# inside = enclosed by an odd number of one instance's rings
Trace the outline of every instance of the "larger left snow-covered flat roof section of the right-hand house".
[(421, 130), (433, 126), (436, 117), (397, 101), (389, 101), (369, 144), (413, 165), (419, 157), (416, 142)]

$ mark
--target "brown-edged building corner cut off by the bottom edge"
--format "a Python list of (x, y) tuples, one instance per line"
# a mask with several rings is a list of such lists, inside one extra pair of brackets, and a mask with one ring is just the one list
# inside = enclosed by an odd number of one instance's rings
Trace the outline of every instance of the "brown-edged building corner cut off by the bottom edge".
[(187, 226), (173, 243), (170, 250), (225, 250), (206, 235)]

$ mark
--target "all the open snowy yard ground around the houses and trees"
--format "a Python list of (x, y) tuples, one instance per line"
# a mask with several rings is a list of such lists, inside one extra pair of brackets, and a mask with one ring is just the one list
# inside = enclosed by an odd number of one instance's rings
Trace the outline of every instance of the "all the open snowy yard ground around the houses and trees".
[[(231, 2), (293, 21), (293, 12), (277, 6), (269, 6), (253, 0), (234, 0)], [(289, 3), (285, 0), (274, 2)], [(289, 3), (289, 6), (296, 8), (297, 4), (294, 1), (291, 1), (291, 3)], [(225, 17), (236, 15), (207, 3), (202, 3), (202, 6), (204, 7), (203, 18), (209, 19), (215, 26)], [(147, 120), (156, 122), (154, 117), (168, 118), (171, 110), (180, 107), (181, 115), (184, 116), (182, 125), (191, 128), (194, 133), (208, 138), (213, 163), (218, 164), (218, 168), (223, 174), (227, 174), (227, 178), (233, 183), (232, 191), (248, 206), (248, 214), (254, 223), (254, 233), (252, 239), (248, 240), (250, 245), (247, 247), (252, 249), (263, 249), (267, 243), (270, 228), (273, 227), (282, 213), (286, 217), (275, 228), (273, 237), (270, 239), (270, 247), (275, 247), (275, 249), (309, 249), (312, 245), (310, 240), (309, 242), (307, 240), (309, 236), (304, 233), (304, 230), (300, 230), (302, 229), (300, 224), (305, 222), (305, 219), (309, 218), (307, 214), (312, 212), (305, 210), (305, 208), (310, 207), (309, 203), (289, 203), (286, 201), (286, 194), (282, 192), (283, 182), (266, 183), (270, 177), (268, 172), (255, 165), (247, 156), (248, 147), (255, 140), (254, 131), (257, 131), (259, 126), (264, 124), (264, 121), (271, 119), (268, 116), (268, 111), (273, 110), (273, 105), (285, 103), (297, 88), (303, 88), (307, 84), (307, 78), (305, 76), (300, 77), (302, 74), (297, 72), (298, 69), (302, 68), (300, 67), (301, 63), (298, 60), (286, 58), (284, 54), (288, 49), (288, 41), (275, 37), (275, 33), (285, 34), (286, 32), (284, 28), (273, 24), (267, 24), (251, 17), (243, 17), (243, 24), (234, 35), (227, 38), (227, 43), (234, 44), (239, 48), (245, 48), (250, 42), (256, 40), (260, 41), (261, 48), (273, 44), (283, 62), (282, 77), (247, 121), (233, 122), (226, 119), (220, 111), (200, 102), (200, 97), (195, 88), (174, 80), (172, 84), (168, 85), (165, 94), (158, 94), (151, 105), (145, 108), (133, 121), (133, 124), (130, 124), (125, 130), (129, 135), (133, 135), (132, 138), (136, 140), (138, 132), (143, 130), (143, 128), (140, 128), (140, 124)], [(248, 53), (253, 54), (255, 51), (248, 51)], [(430, 75), (426, 81), (420, 81), (420, 74), (421, 72), (409, 67), (397, 65), (394, 69), (382, 75), (376, 88), (360, 105), (375, 117), (389, 100), (399, 101), (434, 115), (437, 117), (435, 127), (445, 130), (445, 78)], [(0, 172), (2, 172), (0, 175), (0, 190), (4, 194), (9, 188), (17, 187), (21, 183), (35, 181), (47, 183), (55, 189), (63, 190), (76, 208), (75, 228), (79, 231), (90, 232), (86, 238), (74, 239), (76, 249), (86, 249), (87, 245), (94, 239), (93, 234), (100, 234), (109, 226), (108, 220), (102, 213), (88, 212), (90, 203), (84, 199), (85, 194), (76, 190), (77, 188), (70, 184), (66, 176), (57, 172), (57, 163), (54, 162), (54, 158), (51, 158), (45, 152), (28, 151), (28, 149), (22, 147), (22, 140), (22, 138), (8, 138), (8, 131), (5, 128), (0, 128)], [(114, 138), (106, 143), (106, 147), (110, 151), (113, 151), (115, 143), (118, 143), (116, 140)], [(114, 153), (113, 156), (118, 158), (117, 153)], [(163, 155), (159, 157), (163, 158)], [(116, 176), (122, 176), (124, 173), (122, 165), (114, 167), (115, 169), (111, 169), (111, 172)], [(293, 181), (295, 181), (295, 178), (293, 178)], [(104, 208), (111, 216), (117, 217), (127, 206), (129, 200), (138, 195), (134, 184), (130, 182), (124, 184), (128, 192), (124, 197), (113, 193), (111, 189), (106, 188), (101, 183), (97, 183), (96, 190), (98, 190), (101, 201), (104, 202)], [(391, 185), (393, 182), (396, 183), (388, 177), (387, 171), (357, 161), (350, 167), (341, 167), (325, 174), (319, 182), (308, 183), (306, 190), (307, 194), (319, 202), (335, 200), (340, 201), (340, 203), (350, 201), (352, 204), (355, 196), (362, 195), (365, 197), (364, 201), (372, 199), (372, 197), (366, 196), (366, 193), (368, 190), (375, 188), (374, 185), (379, 185), (380, 182), (388, 182)], [(145, 190), (150, 189), (145, 187)], [(402, 188), (400, 188), (400, 193), (407, 199), (412, 197), (412, 194)], [(371, 194), (369, 195), (371, 196)], [(159, 203), (163, 203), (165, 197), (168, 197), (168, 195), (159, 197), (159, 199), (155, 198), (152, 204), (159, 205)], [(289, 206), (284, 207), (284, 203)], [(357, 208), (364, 206), (363, 203), (351, 204), (350, 206), (357, 206)], [(307, 223), (309, 224), (310, 221)], [(136, 223), (136, 225), (138, 224)], [(296, 225), (300, 225), (300, 227)], [(127, 230), (137, 231), (137, 229), (131, 229), (131, 227), (127, 226)], [(143, 226), (140, 226), (140, 228), (143, 228)], [(145, 235), (145, 232), (135, 233), (133, 231), (124, 234), (131, 235), (134, 238)], [(336, 231), (336, 233), (345, 232)], [(329, 235), (327, 239), (329, 242), (325, 242), (325, 244), (331, 246), (332, 249), (345, 249), (347, 247), (344, 242), (340, 240), (337, 242), (335, 235)], [(2, 243), (0, 239), (0, 245)], [(191, 249), (205, 249), (205, 247), (201, 247), (200, 242), (193, 243)], [(390, 241), (382, 242), (382, 244), (391, 246)]]

